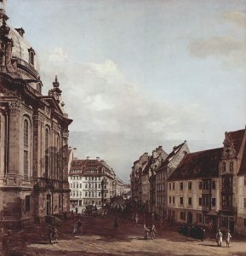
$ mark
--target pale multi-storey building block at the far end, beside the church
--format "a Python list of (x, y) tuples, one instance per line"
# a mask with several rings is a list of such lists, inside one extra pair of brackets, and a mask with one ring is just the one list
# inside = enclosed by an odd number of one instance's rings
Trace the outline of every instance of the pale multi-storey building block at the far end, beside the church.
[[(72, 155), (72, 152), (71, 152)], [(72, 207), (100, 206), (110, 202), (112, 197), (122, 195), (125, 186), (105, 160), (77, 160), (71, 157), (68, 182)]]

